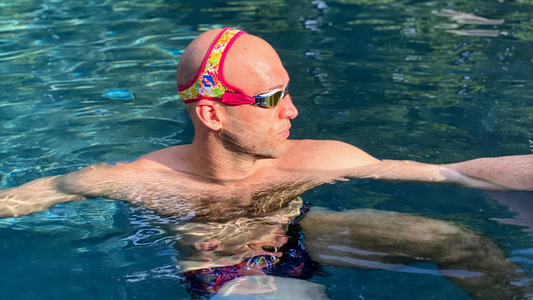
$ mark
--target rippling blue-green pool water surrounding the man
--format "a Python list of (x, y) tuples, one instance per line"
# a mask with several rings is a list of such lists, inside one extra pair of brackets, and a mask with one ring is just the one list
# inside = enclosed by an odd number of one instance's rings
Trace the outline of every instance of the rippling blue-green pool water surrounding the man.
[[(194, 37), (226, 26), (281, 56), (300, 112), (291, 138), (429, 163), (531, 154), (532, 20), (528, 0), (2, 1), (0, 187), (189, 143), (176, 65)], [(303, 195), (456, 222), (530, 273), (533, 195), (513, 197), (370, 180)], [(0, 220), (0, 295), (188, 299), (167, 223), (109, 199)], [(311, 281), (331, 299), (472, 299), (441, 276), (326, 269)]]

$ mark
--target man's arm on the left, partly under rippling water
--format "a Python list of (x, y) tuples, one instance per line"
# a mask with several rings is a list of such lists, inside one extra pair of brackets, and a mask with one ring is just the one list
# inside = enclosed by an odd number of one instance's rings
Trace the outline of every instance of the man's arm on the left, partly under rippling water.
[(0, 190), (0, 218), (24, 216), (63, 202), (104, 196), (107, 188), (102, 175), (112, 168), (107, 164), (93, 165), (69, 174), (40, 178), (19, 187)]

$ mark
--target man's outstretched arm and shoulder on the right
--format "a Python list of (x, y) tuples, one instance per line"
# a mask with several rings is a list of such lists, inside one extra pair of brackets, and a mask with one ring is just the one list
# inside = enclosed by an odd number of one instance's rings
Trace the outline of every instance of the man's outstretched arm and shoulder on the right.
[[(452, 164), (379, 160), (338, 141), (292, 142), (286, 165), (324, 178), (449, 183), (494, 191), (533, 191), (533, 154), (478, 158)], [(330, 179), (328, 179), (330, 178)]]

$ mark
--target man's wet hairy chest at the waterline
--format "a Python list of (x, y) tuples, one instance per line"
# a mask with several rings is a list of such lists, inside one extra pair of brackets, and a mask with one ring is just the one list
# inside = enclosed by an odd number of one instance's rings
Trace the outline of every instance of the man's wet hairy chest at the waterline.
[[(287, 206), (317, 182), (297, 177), (264, 177), (253, 182), (214, 182), (194, 176), (160, 177), (123, 185), (114, 198), (179, 218), (227, 221), (261, 217)], [(113, 196), (113, 195), (111, 195)]]

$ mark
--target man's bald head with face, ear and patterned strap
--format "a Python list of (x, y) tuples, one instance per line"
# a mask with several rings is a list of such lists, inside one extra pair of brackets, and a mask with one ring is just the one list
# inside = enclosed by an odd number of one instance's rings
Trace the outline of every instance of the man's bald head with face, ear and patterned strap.
[[(220, 30), (207, 31), (185, 49), (178, 64), (179, 87), (196, 80), (204, 58), (210, 55), (207, 51), (219, 33)], [(223, 51), (225, 61), (219, 64), (218, 77), (227, 88), (256, 96), (283, 89), (289, 83), (289, 75), (276, 51), (256, 36), (233, 35), (231, 44), (228, 43)], [(201, 84), (206, 87), (210, 76), (216, 75), (209, 72), (206, 71), (202, 78)], [(220, 86), (216, 85), (214, 89), (220, 89)], [(217, 91), (217, 97), (222, 94), (220, 92), (224, 91)], [(272, 109), (252, 104), (232, 105), (208, 95), (209, 92), (205, 92), (195, 98), (186, 98), (194, 99), (187, 102), (186, 107), (195, 129), (192, 145), (196, 151), (207, 151), (217, 159), (225, 153), (226, 159), (221, 165), (235, 164), (235, 169), (248, 168), (256, 159), (278, 158), (286, 152), (290, 120), (298, 115), (289, 95)]]

